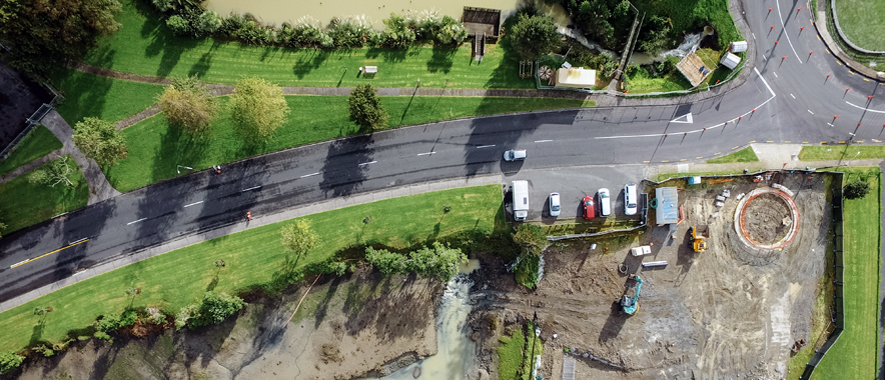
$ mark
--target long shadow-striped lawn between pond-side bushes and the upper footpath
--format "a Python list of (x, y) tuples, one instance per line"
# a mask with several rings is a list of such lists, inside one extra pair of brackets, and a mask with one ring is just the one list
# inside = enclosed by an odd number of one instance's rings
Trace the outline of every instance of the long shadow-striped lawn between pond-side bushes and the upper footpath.
[[(505, 58), (500, 45), (488, 45), (482, 63), (470, 44), (448, 48), (317, 50), (244, 45), (172, 35), (147, 5), (122, 0), (120, 31), (102, 40), (85, 62), (127, 73), (153, 76), (198, 75), (206, 82), (235, 84), (243, 75), (283, 86), (534, 88), (519, 79), (518, 58)], [(373, 79), (357, 77), (360, 66), (378, 66)], [(345, 67), (347, 70), (345, 71)]]

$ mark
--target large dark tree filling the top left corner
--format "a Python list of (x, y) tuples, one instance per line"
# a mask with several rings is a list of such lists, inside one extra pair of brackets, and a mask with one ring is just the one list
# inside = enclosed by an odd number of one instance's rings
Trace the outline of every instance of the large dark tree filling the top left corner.
[(0, 41), (5, 61), (31, 77), (45, 78), (65, 60), (78, 60), (98, 38), (120, 29), (117, 0), (14, 0), (0, 2)]

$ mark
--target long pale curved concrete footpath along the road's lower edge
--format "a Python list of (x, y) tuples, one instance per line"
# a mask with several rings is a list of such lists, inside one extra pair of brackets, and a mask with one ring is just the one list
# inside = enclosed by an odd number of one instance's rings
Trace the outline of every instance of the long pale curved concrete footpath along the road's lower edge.
[[(59, 117), (60, 118), (60, 117)], [(90, 160), (92, 161), (92, 160)], [(102, 177), (103, 178), (103, 177)], [(391, 199), (404, 197), (407, 195), (421, 194), (431, 191), (440, 191), (440, 190), (448, 190), (455, 189), (460, 187), (468, 187), (468, 186), (481, 186), (481, 185), (497, 185), (503, 181), (503, 175), (488, 175), (488, 176), (476, 176), (471, 178), (459, 178), (453, 180), (446, 181), (437, 181), (437, 182), (428, 182), (421, 183), (409, 186), (401, 186), (396, 188), (391, 188), (388, 190), (376, 191), (371, 193), (362, 193), (354, 196), (347, 197), (339, 197), (333, 198), (328, 201), (318, 202), (302, 207), (295, 207), (287, 210), (282, 210), (279, 213), (271, 214), (271, 215), (261, 215), (254, 217), (251, 221), (241, 221), (234, 224), (227, 225), (222, 228), (216, 228), (214, 230), (210, 230), (203, 233), (198, 233), (190, 236), (182, 236), (175, 240), (167, 241), (163, 244), (160, 244), (155, 247), (151, 247), (142, 251), (139, 251), (135, 254), (128, 255), (116, 259), (114, 261), (110, 261), (107, 263), (103, 263), (101, 265), (97, 265), (95, 267), (89, 268), (83, 272), (77, 273), (75, 276), (70, 276), (65, 278), (64, 280), (57, 281), (55, 283), (34, 289), (28, 293), (25, 293), (21, 296), (10, 299), (6, 302), (0, 303), (0, 312), (9, 310), (31, 300), (34, 300), (38, 297), (44, 296), (46, 294), (52, 293), (58, 289), (66, 287), (71, 284), (75, 284), (77, 282), (83, 281), (90, 277), (98, 276), (102, 273), (110, 272), (114, 269), (121, 268), (123, 266), (139, 262), (141, 260), (154, 257), (157, 255), (161, 255), (163, 253), (174, 251), (179, 248), (184, 248), (189, 245), (197, 244), (206, 240), (214, 239), (217, 237), (245, 231), (252, 228), (257, 228), (261, 226), (265, 226), (268, 224), (298, 218), (305, 215), (315, 214), (319, 212), (335, 210), (339, 208), (344, 208), (348, 206), (353, 206), (357, 204), (369, 203), (374, 201), (380, 201), (383, 199)], [(90, 200), (92, 198), (90, 197)]]

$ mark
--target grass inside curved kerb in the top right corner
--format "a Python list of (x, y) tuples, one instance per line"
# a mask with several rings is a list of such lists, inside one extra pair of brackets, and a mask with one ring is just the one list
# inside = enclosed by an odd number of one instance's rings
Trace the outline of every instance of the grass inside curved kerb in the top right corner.
[(885, 50), (885, 2), (839, 0), (836, 13), (839, 27), (852, 43), (867, 50)]

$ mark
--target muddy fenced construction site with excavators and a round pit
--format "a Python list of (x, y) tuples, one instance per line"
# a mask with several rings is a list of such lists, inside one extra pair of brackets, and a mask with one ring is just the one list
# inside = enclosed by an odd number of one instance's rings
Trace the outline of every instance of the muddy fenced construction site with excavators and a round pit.
[(527, 321), (540, 326), (545, 379), (782, 379), (793, 349), (823, 344), (828, 174), (644, 186), (644, 231), (554, 242), (534, 291), (486, 258), (469, 321), (480, 368), (496, 378), (498, 338)]

